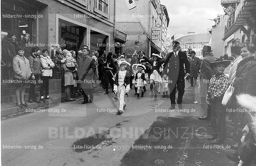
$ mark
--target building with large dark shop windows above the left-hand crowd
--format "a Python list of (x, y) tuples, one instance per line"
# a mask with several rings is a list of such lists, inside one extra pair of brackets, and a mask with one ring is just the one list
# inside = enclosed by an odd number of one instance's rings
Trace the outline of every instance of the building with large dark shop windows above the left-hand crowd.
[[(48, 49), (114, 51), (114, 0), (3, 0), (1, 38), (29, 33), (31, 42)], [(5, 15), (6, 14), (6, 15)], [(21, 15), (10, 18), (10, 15)], [(11, 26), (10, 26), (11, 25)]]

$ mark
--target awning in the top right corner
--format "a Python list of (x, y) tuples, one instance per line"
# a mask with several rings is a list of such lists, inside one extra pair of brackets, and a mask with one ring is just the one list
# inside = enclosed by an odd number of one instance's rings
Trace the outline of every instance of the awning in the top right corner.
[(245, 0), (236, 18), (236, 26), (251, 25), (256, 21), (256, 1)]

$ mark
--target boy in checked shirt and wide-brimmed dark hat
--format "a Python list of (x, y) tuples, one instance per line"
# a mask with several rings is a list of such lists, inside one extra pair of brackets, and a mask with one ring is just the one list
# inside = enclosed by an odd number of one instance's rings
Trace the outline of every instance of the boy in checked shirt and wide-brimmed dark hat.
[(230, 61), (222, 59), (210, 63), (215, 75), (212, 76), (207, 91), (207, 106), (212, 113), (212, 135), (207, 139), (211, 140), (212, 144), (222, 144), (226, 139), (226, 111), (221, 102), (229, 87), (229, 78), (223, 73), (229, 64)]

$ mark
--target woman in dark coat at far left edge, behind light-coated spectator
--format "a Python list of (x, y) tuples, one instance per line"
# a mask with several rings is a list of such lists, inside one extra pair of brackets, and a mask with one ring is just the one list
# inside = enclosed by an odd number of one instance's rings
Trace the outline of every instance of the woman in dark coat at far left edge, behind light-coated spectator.
[[(2, 71), (7, 71), (5, 79), (13, 79), (12, 59), (16, 56), (16, 35), (8, 33), (2, 41), (2, 57), (1, 61), (5, 64)], [(5, 72), (3, 73), (5, 75)], [(3, 76), (2, 75), (2, 76)]]

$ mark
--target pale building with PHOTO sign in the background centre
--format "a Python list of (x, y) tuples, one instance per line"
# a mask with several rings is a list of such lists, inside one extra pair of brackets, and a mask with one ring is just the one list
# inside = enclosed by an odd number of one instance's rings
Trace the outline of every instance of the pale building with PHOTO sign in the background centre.
[(123, 52), (132, 54), (137, 50), (151, 55), (167, 50), (163, 43), (167, 39), (169, 16), (160, 0), (134, 0), (131, 4), (118, 0), (118, 3), (122, 5), (116, 5), (116, 29), (127, 34)]

